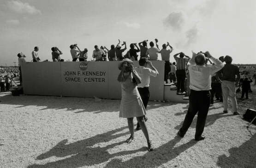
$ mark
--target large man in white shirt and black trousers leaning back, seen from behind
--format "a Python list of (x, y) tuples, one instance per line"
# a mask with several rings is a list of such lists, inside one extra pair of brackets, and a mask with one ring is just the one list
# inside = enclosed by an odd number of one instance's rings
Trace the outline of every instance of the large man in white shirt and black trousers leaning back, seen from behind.
[[(196, 134), (195, 140), (203, 140), (202, 136), (206, 117), (210, 106), (210, 89), (211, 89), (211, 76), (224, 67), (224, 64), (216, 58), (213, 58), (209, 52), (193, 53), (190, 60), (189, 73), (190, 73), (190, 89), (189, 96), (189, 109), (185, 116), (182, 127), (179, 129), (178, 135), (184, 137), (188, 128), (190, 127), (193, 118), (197, 114), (196, 121)], [(206, 58), (212, 60), (214, 65), (205, 65)]]

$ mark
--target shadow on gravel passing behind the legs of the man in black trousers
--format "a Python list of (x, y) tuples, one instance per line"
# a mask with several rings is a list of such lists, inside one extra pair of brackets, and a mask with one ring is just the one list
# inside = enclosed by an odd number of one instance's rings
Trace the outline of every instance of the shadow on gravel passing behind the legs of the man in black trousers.
[[(212, 114), (212, 115), (208, 115), (207, 118), (206, 118), (206, 122), (205, 122), (205, 127), (208, 127), (210, 125), (213, 125), (214, 122), (216, 120), (218, 120), (219, 118), (222, 118), (222, 117), (229, 117), (229, 116), (234, 116), (232, 114), (229, 114), (229, 115), (226, 115), (224, 113), (216, 113), (216, 114)], [(184, 117), (185, 118), (185, 117)], [(197, 117), (195, 117), (193, 119), (193, 122), (191, 123), (191, 126), (192, 128), (195, 128), (196, 127), (196, 119)], [(174, 127), (175, 129), (179, 130), (181, 127), (182, 127), (182, 124), (183, 122), (181, 122), (178, 126)]]

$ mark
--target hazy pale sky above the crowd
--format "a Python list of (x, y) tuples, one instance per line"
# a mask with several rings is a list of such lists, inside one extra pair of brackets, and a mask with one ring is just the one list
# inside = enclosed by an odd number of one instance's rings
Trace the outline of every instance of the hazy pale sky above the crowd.
[(173, 46), (171, 61), (193, 50), (256, 64), (256, 0), (0, 0), (0, 23), (0, 65), (14, 65), (18, 52), (31, 61), (35, 46), (41, 60), (53, 46), (71, 60), (77, 43), (90, 60), (95, 45), (155, 38)]

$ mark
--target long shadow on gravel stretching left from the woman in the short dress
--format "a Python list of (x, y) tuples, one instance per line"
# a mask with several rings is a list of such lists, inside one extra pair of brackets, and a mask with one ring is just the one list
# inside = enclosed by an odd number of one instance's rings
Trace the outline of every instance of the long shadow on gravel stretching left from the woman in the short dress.
[[(108, 149), (111, 149), (117, 145), (125, 143), (125, 141), (113, 143), (105, 147), (92, 147), (98, 143), (108, 142), (111, 139), (116, 139), (121, 136), (128, 134), (118, 133), (123, 131), (127, 127), (121, 127), (107, 133), (102, 133), (90, 137), (88, 139), (83, 139), (71, 144), (68, 144), (68, 140), (64, 139), (54, 146), (50, 151), (47, 151), (36, 157), (36, 160), (43, 160), (52, 156), (56, 157), (66, 157), (68, 158), (58, 160), (56, 162), (48, 162), (44, 165), (33, 164), (28, 166), (28, 168), (79, 168), (83, 166), (92, 166), (94, 164), (100, 164), (102, 162), (108, 161), (110, 158), (121, 155), (129, 155), (136, 153), (138, 151), (146, 151), (147, 148), (143, 147), (135, 151), (122, 151), (114, 154), (109, 154)], [(118, 134), (116, 134), (118, 133)]]

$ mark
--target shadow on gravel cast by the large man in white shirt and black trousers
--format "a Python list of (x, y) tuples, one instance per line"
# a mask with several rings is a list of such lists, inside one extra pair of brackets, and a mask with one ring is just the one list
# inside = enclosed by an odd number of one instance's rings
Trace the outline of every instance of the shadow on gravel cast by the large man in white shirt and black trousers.
[[(125, 162), (122, 162), (121, 159), (113, 159), (108, 162), (106, 168), (155, 168), (161, 166), (196, 144), (196, 141), (192, 139), (186, 144), (174, 147), (179, 140), (180, 138), (176, 136), (174, 139), (164, 145), (161, 145), (154, 151), (147, 152), (143, 156), (133, 157)], [(173, 167), (178, 166), (179, 165), (173, 165)]]

